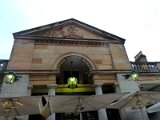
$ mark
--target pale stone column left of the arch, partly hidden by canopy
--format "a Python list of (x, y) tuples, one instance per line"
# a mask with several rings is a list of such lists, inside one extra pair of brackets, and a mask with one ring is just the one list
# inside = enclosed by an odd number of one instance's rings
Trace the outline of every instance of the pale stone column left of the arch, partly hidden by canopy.
[[(47, 87), (49, 88), (48, 95), (55, 95), (57, 84), (48, 84)], [(56, 120), (55, 113), (52, 113), (47, 120)]]

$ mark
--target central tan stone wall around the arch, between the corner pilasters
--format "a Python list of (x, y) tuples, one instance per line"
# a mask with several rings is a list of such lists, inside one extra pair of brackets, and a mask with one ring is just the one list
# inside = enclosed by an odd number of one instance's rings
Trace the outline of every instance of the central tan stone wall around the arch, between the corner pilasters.
[[(32, 69), (51, 69), (57, 59), (69, 53), (78, 53), (87, 56), (97, 69), (112, 69), (112, 60), (108, 47), (92, 46), (56, 46), (35, 45), (32, 59)], [(84, 58), (85, 59), (85, 58)]]

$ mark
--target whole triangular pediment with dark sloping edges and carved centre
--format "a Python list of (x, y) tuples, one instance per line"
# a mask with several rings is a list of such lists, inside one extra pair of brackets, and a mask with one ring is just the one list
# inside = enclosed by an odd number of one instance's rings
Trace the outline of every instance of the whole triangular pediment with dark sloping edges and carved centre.
[(123, 38), (102, 31), (98, 28), (95, 28), (75, 19), (68, 19), (61, 22), (56, 22), (53, 24), (20, 31), (14, 33), (14, 37), (16, 36), (124, 41)]

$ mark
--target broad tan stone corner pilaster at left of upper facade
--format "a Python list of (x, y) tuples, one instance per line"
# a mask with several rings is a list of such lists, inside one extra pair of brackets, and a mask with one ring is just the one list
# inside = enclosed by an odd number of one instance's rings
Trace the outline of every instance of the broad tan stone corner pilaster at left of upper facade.
[(30, 70), (33, 48), (33, 40), (15, 40), (7, 69)]

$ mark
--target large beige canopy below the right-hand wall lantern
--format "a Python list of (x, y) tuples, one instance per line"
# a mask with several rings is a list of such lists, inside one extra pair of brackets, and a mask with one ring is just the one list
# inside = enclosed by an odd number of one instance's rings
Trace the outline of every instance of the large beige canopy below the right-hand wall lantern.
[(121, 98), (121, 100), (111, 104), (109, 108), (143, 108), (160, 101), (160, 92), (136, 91)]

